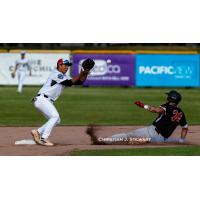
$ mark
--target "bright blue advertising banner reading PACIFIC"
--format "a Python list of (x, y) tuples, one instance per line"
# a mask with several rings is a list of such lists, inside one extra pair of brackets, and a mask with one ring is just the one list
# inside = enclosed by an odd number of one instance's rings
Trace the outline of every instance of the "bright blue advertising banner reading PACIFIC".
[(199, 85), (199, 55), (137, 55), (136, 86)]

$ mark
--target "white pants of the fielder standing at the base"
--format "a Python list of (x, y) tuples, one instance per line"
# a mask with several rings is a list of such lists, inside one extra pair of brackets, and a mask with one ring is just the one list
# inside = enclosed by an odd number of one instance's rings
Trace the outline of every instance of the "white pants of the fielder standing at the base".
[(53, 102), (42, 94), (36, 97), (34, 106), (48, 119), (48, 121), (37, 130), (42, 138), (47, 139), (54, 126), (60, 123), (59, 113), (53, 105)]

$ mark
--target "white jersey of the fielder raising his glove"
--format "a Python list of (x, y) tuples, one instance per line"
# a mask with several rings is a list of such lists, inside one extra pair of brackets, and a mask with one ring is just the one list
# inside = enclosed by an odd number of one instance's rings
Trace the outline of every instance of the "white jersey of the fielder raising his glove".
[(49, 75), (47, 82), (39, 90), (39, 94), (45, 94), (52, 100), (58, 99), (63, 89), (64, 85), (59, 84), (65, 80), (71, 80), (72, 78), (69, 75), (59, 72), (57, 69), (52, 71)]

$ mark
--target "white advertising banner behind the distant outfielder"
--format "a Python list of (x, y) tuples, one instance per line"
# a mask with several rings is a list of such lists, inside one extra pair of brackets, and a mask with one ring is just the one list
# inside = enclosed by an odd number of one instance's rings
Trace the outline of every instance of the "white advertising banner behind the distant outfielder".
[[(59, 58), (70, 58), (69, 53), (27, 53), (26, 58), (31, 68), (31, 76), (26, 72), (25, 85), (42, 85), (52, 70), (56, 68)], [(0, 53), (0, 85), (17, 85), (17, 76), (11, 77), (20, 53)], [(70, 72), (68, 72), (70, 73)]]

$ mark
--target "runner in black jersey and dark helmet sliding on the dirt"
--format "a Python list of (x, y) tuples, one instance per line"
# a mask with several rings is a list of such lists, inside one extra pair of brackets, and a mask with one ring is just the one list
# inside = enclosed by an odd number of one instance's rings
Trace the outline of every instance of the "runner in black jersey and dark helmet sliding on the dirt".
[[(152, 113), (158, 113), (158, 117), (150, 126), (133, 130), (128, 133), (117, 133), (107, 138), (97, 137), (94, 127), (88, 127), (87, 134), (91, 137), (93, 144), (135, 144), (144, 142), (168, 142), (170, 136), (178, 125), (182, 127), (181, 136), (176, 140), (178, 143), (186, 142), (188, 132), (186, 117), (181, 108), (178, 107), (182, 97), (175, 90), (167, 94), (167, 102), (159, 107), (145, 105), (141, 101), (135, 101), (135, 105)], [(175, 140), (173, 140), (175, 142)]]

